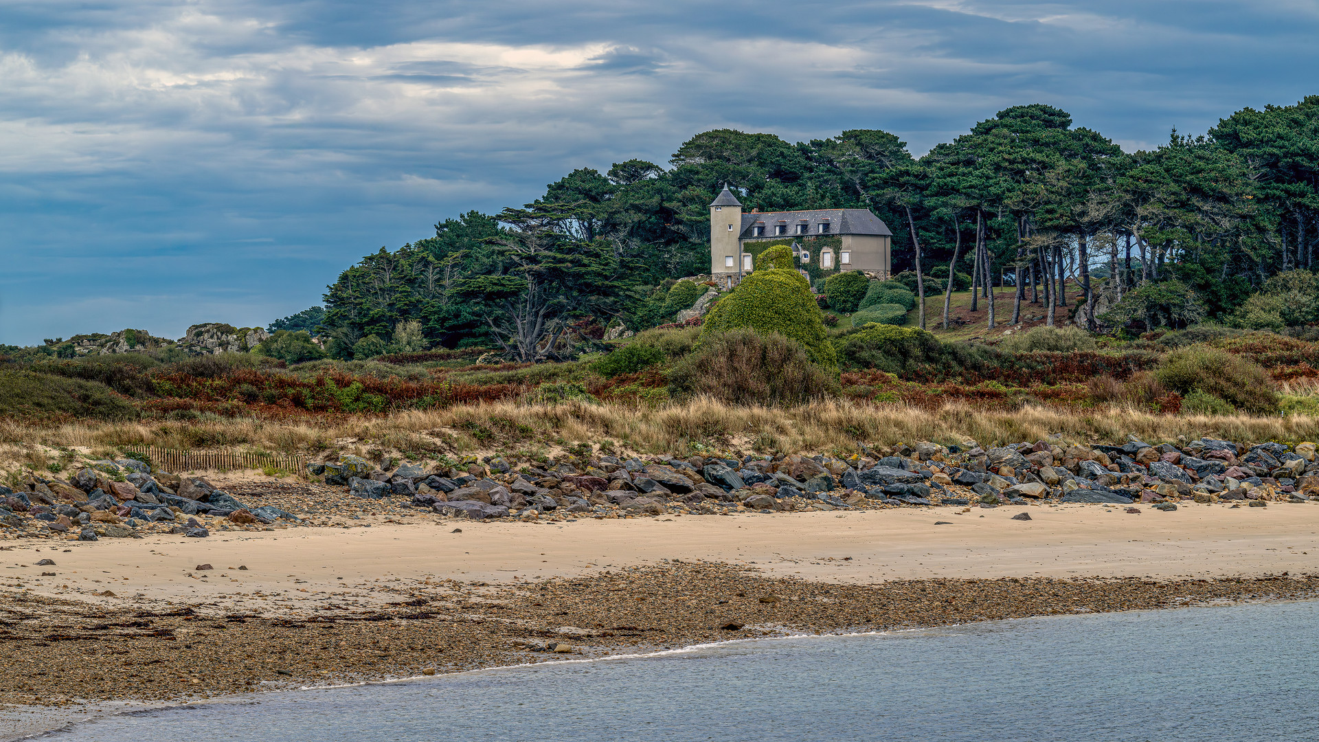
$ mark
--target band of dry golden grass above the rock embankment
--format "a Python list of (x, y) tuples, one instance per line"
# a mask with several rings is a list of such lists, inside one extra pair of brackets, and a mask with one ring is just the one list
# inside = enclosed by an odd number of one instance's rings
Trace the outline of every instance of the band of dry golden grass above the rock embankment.
[(1068, 441), (1089, 442), (1121, 442), (1128, 436), (1153, 444), (1183, 436), (1242, 442), (1302, 441), (1319, 438), (1319, 417), (1154, 415), (1121, 404), (1087, 411), (1051, 407), (984, 411), (952, 403), (930, 411), (845, 400), (798, 407), (733, 407), (696, 399), (657, 408), (487, 403), (348, 417), (319, 425), (222, 417), (154, 424), (80, 421), (53, 426), (0, 421), (0, 442), (9, 444), (12, 453), (34, 444), (84, 450), (127, 445), (185, 450), (259, 448), (303, 454), (375, 446), (425, 457), (546, 450), (546, 446), (580, 444), (629, 453), (687, 454), (708, 448), (851, 453), (860, 450), (860, 444), (892, 446), (913, 441), (960, 444), (975, 440), (993, 445), (1034, 441), (1051, 433)]

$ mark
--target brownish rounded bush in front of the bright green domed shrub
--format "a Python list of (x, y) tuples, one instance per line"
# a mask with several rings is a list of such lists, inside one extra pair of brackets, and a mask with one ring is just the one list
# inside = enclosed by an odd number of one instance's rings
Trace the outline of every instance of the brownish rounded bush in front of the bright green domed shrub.
[(743, 327), (703, 338), (669, 371), (675, 397), (710, 396), (729, 404), (802, 404), (838, 393), (838, 380), (801, 343)]

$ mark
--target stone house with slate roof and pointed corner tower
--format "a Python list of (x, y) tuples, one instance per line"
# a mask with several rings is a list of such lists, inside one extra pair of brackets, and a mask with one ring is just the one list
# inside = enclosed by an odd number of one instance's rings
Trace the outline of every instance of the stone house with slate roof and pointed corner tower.
[(737, 279), (756, 269), (757, 256), (790, 244), (798, 268), (814, 279), (838, 271), (864, 271), (888, 279), (893, 232), (869, 209), (743, 213), (728, 186), (710, 203), (710, 272)]

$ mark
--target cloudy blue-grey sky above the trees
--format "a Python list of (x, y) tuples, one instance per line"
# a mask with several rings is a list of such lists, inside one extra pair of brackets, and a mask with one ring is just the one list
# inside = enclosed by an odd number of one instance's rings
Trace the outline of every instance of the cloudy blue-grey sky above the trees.
[(1312, 0), (0, 0), (0, 343), (264, 326), (381, 246), (694, 133), (1125, 149), (1319, 94)]

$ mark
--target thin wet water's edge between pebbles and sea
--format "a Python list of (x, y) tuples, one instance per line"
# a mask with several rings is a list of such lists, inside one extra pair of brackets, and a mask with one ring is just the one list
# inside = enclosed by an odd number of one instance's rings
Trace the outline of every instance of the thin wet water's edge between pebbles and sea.
[[(1249, 578), (1242, 578), (1242, 577), (1224, 577), (1224, 578), (1220, 580), (1220, 582), (1228, 582), (1228, 584), (1235, 584), (1235, 585), (1244, 585), (1245, 582), (1254, 582), (1254, 584), (1257, 584), (1258, 581), (1277, 582), (1278, 580), (1285, 580), (1285, 578), (1279, 578), (1279, 577), (1275, 577), (1275, 576), (1268, 576), (1268, 577), (1261, 577), (1261, 578), (1258, 578), (1256, 581), (1256, 580), (1249, 580)], [(1046, 582), (1050, 582), (1050, 581), (1046, 581)], [(1057, 581), (1053, 581), (1053, 582), (1057, 582)], [(1198, 582), (1204, 582), (1204, 581), (1198, 581)], [(20, 742), (20, 741), (24, 741), (24, 739), (42, 738), (42, 737), (45, 737), (47, 734), (51, 734), (51, 733), (55, 733), (55, 731), (59, 731), (59, 730), (63, 730), (63, 729), (70, 729), (70, 727), (74, 727), (77, 725), (95, 722), (98, 720), (107, 718), (107, 717), (113, 717), (113, 716), (152, 713), (152, 712), (157, 712), (157, 710), (164, 710), (164, 709), (170, 709), (170, 708), (178, 708), (178, 706), (197, 706), (197, 705), (211, 705), (211, 704), (259, 704), (262, 697), (273, 694), (273, 693), (301, 693), (301, 692), (310, 692), (310, 691), (334, 691), (334, 689), (340, 689), (340, 688), (353, 688), (353, 687), (363, 687), (363, 685), (388, 685), (388, 684), (397, 684), (397, 683), (413, 683), (413, 681), (418, 681), (418, 680), (425, 680), (427, 677), (443, 677), (443, 676), (450, 676), (450, 675), (466, 675), (466, 673), (487, 672), (487, 671), (508, 671), (508, 669), (536, 667), (536, 665), (542, 665), (542, 664), (578, 664), (578, 663), (596, 663), (596, 661), (607, 661), (607, 660), (646, 659), (646, 658), (654, 658), (654, 656), (687, 654), (687, 652), (692, 652), (692, 651), (699, 651), (699, 650), (712, 648), (712, 647), (720, 647), (720, 646), (725, 646), (725, 644), (740, 644), (740, 643), (751, 643), (751, 642), (769, 642), (769, 640), (783, 640), (783, 639), (813, 639), (813, 638), (826, 639), (826, 638), (852, 638), (852, 636), (880, 636), (880, 635), (890, 635), (890, 634), (900, 634), (900, 632), (909, 632), (909, 631), (926, 631), (926, 630), (933, 630), (933, 628), (954, 628), (954, 627), (958, 627), (958, 626), (969, 626), (969, 624), (975, 624), (975, 623), (987, 623), (987, 622), (997, 622), (997, 621), (1021, 621), (1021, 619), (1038, 619), (1038, 618), (1066, 618), (1066, 617), (1075, 617), (1075, 615), (1100, 615), (1100, 614), (1126, 613), (1126, 611), (1138, 611), (1138, 610), (1155, 610), (1155, 611), (1161, 611), (1162, 613), (1162, 611), (1177, 611), (1177, 610), (1182, 610), (1182, 609), (1194, 609), (1194, 607), (1236, 607), (1236, 606), (1242, 606), (1242, 605), (1290, 603), (1290, 602), (1304, 602), (1304, 601), (1316, 601), (1316, 599), (1319, 599), (1319, 578), (1311, 577), (1311, 578), (1307, 578), (1306, 582), (1307, 582), (1307, 586), (1303, 590), (1301, 590), (1298, 593), (1289, 594), (1289, 595), (1272, 594), (1272, 595), (1246, 595), (1246, 597), (1236, 597), (1236, 598), (1219, 597), (1219, 598), (1215, 598), (1215, 599), (1200, 601), (1200, 602), (1184, 602), (1182, 605), (1162, 605), (1162, 606), (1157, 606), (1157, 605), (1155, 606), (1150, 606), (1150, 605), (1146, 605), (1146, 606), (1132, 606), (1132, 607), (1124, 607), (1124, 609), (1116, 609), (1116, 610), (1088, 611), (1088, 613), (1071, 613), (1071, 614), (1068, 614), (1068, 613), (1024, 614), (1024, 615), (1009, 615), (1009, 617), (977, 618), (977, 619), (971, 619), (971, 621), (964, 621), (964, 622), (954, 622), (954, 623), (933, 623), (933, 624), (927, 624), (927, 626), (901, 626), (901, 627), (869, 628), (869, 630), (860, 630), (860, 631), (827, 631), (827, 630), (815, 630), (815, 631), (810, 631), (810, 632), (806, 632), (806, 631), (791, 632), (791, 631), (780, 630), (781, 632), (778, 632), (778, 634), (764, 634), (764, 635), (757, 635), (757, 636), (725, 638), (725, 639), (716, 639), (716, 640), (707, 640), (707, 642), (696, 642), (696, 643), (691, 643), (691, 644), (683, 644), (683, 646), (679, 646), (679, 647), (671, 647), (671, 648), (656, 648), (656, 650), (649, 650), (649, 651), (630, 651), (630, 652), (623, 652), (623, 654), (609, 654), (608, 650), (605, 650), (605, 654), (599, 654), (599, 655), (595, 655), (595, 656), (586, 656), (586, 658), (563, 658), (563, 659), (546, 659), (543, 661), (518, 661), (518, 663), (512, 663), (512, 664), (492, 664), (492, 665), (485, 665), (485, 667), (472, 667), (472, 668), (456, 669), (456, 671), (452, 671), (452, 672), (435, 673), (435, 675), (430, 675), (430, 676), (426, 675), (426, 673), (417, 673), (417, 675), (406, 675), (406, 676), (397, 676), (397, 677), (367, 677), (367, 679), (361, 679), (361, 680), (353, 680), (353, 681), (347, 681), (347, 683), (332, 683), (332, 684), (323, 684), (323, 685), (298, 685), (298, 684), (293, 684), (293, 685), (286, 685), (286, 687), (282, 687), (282, 688), (270, 688), (270, 689), (257, 689), (257, 691), (248, 691), (248, 692), (227, 693), (227, 694), (218, 694), (218, 696), (206, 697), (206, 698), (164, 698), (164, 700), (160, 700), (160, 701), (123, 700), (123, 701), (100, 701), (100, 702), (74, 702), (74, 704), (71, 704), (69, 706), (57, 708), (57, 709), (51, 709), (50, 706), (42, 706), (42, 705), (17, 705), (16, 706), (16, 705), (3, 705), (3, 704), (0, 704), (0, 742)], [(1224, 602), (1224, 599), (1228, 599), (1231, 602)], [(127, 705), (127, 706), (133, 706), (133, 708), (120, 708), (120, 709), (108, 708), (111, 705), (119, 705), (119, 704), (123, 704), (123, 705)], [(63, 717), (63, 718), (50, 720), (49, 717), (51, 716), (51, 713), (54, 713), (54, 716), (59, 716), (59, 717)], [(44, 721), (28, 722), (28, 720), (25, 717), (41, 717)]]

